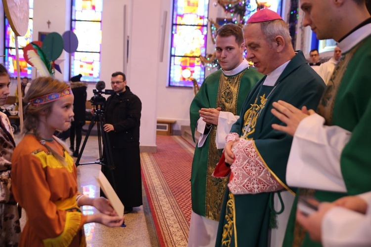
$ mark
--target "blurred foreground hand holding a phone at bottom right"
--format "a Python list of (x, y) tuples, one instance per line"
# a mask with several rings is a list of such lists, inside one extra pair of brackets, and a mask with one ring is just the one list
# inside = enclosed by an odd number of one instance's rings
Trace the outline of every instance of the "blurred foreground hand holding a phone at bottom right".
[(296, 220), (308, 231), (312, 240), (320, 242), (322, 220), (325, 213), (334, 206), (334, 204), (321, 203), (318, 206), (318, 211), (308, 216), (298, 209), (296, 211)]

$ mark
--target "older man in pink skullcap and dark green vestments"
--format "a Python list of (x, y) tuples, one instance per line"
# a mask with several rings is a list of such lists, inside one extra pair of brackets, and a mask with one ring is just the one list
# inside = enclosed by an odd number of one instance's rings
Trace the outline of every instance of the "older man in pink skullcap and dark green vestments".
[(225, 162), (221, 159), (213, 174), (230, 175), (216, 246), (281, 246), (294, 198), (285, 179), (292, 137), (271, 127), (282, 124), (271, 114), (272, 102), (315, 107), (325, 83), (303, 52), (294, 51), (287, 25), (274, 11), (253, 14), (243, 38), (247, 58), (265, 77), (243, 103), (227, 136)]

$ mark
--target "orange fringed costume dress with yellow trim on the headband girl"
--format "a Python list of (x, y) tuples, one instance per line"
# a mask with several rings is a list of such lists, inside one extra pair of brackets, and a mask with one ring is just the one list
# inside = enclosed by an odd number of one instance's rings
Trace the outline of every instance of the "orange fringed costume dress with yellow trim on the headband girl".
[(76, 166), (57, 141), (46, 141), (46, 145), (63, 155), (67, 165), (32, 134), (26, 134), (13, 153), (14, 198), (27, 213), (20, 247), (86, 246), (83, 225), (87, 216), (76, 202)]

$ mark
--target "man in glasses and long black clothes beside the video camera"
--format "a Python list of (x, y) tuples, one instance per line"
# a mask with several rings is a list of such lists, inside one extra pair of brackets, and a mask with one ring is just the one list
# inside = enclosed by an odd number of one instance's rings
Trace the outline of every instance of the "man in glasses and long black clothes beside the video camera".
[(139, 156), (141, 102), (126, 84), (124, 73), (112, 74), (111, 86), (115, 93), (107, 99), (104, 114), (107, 124), (103, 128), (109, 135), (115, 169), (111, 172), (102, 165), (102, 172), (110, 183), (114, 176), (114, 187), (125, 206), (124, 213), (129, 213), (133, 207), (142, 205)]

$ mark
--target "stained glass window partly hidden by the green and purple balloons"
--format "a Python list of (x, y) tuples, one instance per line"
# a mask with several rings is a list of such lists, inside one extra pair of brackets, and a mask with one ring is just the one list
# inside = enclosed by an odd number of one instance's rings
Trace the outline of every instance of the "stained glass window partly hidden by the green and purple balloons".
[(71, 30), (79, 46), (71, 54), (70, 77), (81, 74), (84, 82), (96, 82), (100, 77), (102, 6), (102, 0), (72, 0)]

